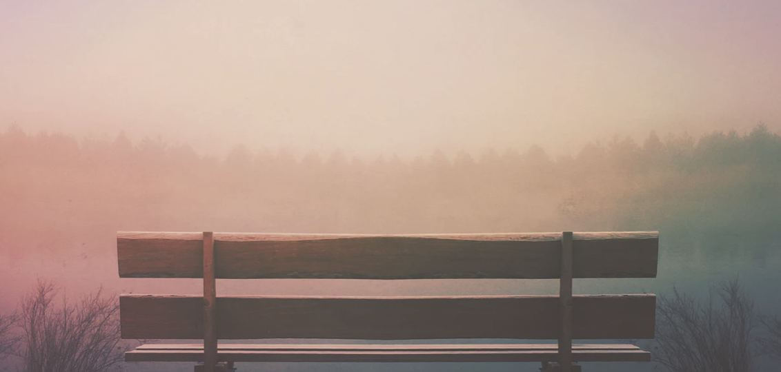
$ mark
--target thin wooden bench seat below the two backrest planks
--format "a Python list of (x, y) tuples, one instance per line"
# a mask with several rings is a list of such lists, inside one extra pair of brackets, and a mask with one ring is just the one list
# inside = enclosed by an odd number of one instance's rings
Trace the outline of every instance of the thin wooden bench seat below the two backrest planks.
[[(129, 362), (200, 362), (203, 345), (143, 345)], [(232, 362), (551, 362), (556, 345), (219, 345), (218, 359)], [(634, 345), (572, 345), (577, 362), (647, 362)]]

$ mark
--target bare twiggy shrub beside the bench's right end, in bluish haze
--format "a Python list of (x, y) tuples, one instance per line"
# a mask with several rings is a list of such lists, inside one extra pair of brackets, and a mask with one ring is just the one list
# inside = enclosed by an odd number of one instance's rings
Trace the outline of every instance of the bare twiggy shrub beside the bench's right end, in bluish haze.
[(659, 296), (654, 361), (672, 372), (748, 372), (753, 366), (758, 315), (737, 280), (716, 288), (721, 306), (702, 304), (673, 289)]

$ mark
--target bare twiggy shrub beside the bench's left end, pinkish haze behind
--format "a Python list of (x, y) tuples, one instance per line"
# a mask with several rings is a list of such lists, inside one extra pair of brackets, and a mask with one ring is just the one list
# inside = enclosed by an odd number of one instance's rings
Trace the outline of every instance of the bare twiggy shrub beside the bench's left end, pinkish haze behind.
[(38, 282), (21, 303), (20, 346), (14, 354), (27, 372), (120, 370), (127, 343), (119, 334), (119, 303), (101, 290), (55, 303), (55, 285)]

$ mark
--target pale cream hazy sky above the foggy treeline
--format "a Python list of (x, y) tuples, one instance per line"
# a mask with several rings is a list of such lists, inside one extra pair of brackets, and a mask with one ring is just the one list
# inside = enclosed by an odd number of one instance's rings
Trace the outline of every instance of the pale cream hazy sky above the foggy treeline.
[(215, 154), (777, 131), (779, 66), (778, 0), (0, 0), (0, 129)]

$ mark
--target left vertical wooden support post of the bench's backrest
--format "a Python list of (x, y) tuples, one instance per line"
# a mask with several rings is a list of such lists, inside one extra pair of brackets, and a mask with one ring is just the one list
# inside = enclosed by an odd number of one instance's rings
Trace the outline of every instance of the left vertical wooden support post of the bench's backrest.
[(203, 367), (217, 364), (217, 288), (214, 275), (214, 233), (203, 233)]

